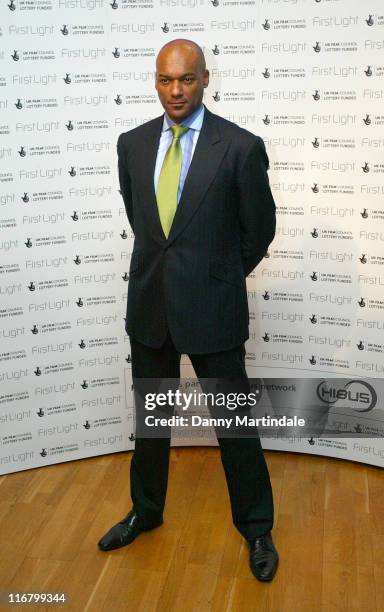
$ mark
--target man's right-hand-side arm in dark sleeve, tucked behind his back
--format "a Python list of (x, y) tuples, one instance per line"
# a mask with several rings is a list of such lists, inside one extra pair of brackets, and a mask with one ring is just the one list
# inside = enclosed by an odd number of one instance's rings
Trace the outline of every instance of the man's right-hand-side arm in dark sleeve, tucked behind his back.
[(268, 156), (256, 138), (245, 155), (239, 174), (239, 219), (245, 276), (263, 259), (276, 228), (276, 207), (269, 187)]

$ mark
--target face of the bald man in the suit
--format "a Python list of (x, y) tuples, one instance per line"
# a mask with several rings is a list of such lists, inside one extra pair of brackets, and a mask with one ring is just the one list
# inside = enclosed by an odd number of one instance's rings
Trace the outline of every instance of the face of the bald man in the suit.
[(156, 62), (159, 100), (175, 123), (181, 123), (201, 104), (209, 73), (203, 70), (198, 53), (188, 46), (163, 49)]

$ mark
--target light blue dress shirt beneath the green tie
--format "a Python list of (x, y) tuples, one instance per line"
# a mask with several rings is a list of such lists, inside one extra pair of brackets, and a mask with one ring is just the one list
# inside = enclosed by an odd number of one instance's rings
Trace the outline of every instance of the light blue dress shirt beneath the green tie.
[[(188, 132), (182, 135), (180, 138), (181, 151), (183, 153), (183, 162), (181, 165), (180, 179), (179, 179), (179, 189), (177, 192), (177, 203), (180, 201), (181, 193), (183, 191), (185, 179), (188, 174), (189, 166), (191, 165), (192, 157), (195, 152), (196, 143), (200, 135), (201, 126), (203, 124), (204, 119), (204, 106), (201, 105), (197, 110), (195, 110), (191, 115), (189, 115), (186, 119), (181, 122), (181, 125), (185, 125), (189, 127)], [(168, 117), (167, 113), (164, 114), (164, 122), (163, 122), (163, 130), (160, 137), (159, 148), (157, 150), (157, 158), (155, 165), (155, 174), (154, 174), (154, 185), (155, 185), (155, 193), (157, 191), (157, 185), (159, 182), (159, 176), (161, 172), (161, 167), (163, 165), (164, 157), (171, 145), (172, 142), (172, 130), (171, 127), (175, 124), (174, 121), (170, 117)]]

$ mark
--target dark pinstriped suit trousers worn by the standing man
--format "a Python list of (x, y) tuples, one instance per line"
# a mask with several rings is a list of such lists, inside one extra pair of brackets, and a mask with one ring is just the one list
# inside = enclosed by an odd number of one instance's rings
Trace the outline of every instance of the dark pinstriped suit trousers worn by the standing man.
[[(181, 355), (169, 334), (159, 349), (144, 346), (131, 338), (131, 355), (134, 386), (145, 378), (180, 378)], [(199, 379), (220, 378), (228, 381), (231, 378), (242, 380), (248, 386), (243, 345), (220, 353), (189, 355), (189, 358)], [(226, 384), (228, 389), (228, 382)], [(258, 437), (218, 436), (218, 442), (234, 525), (248, 541), (264, 535), (273, 525), (273, 497), (260, 440)], [(135, 442), (131, 462), (131, 497), (133, 508), (147, 526), (156, 525), (162, 520), (169, 451), (169, 437), (138, 437)]]

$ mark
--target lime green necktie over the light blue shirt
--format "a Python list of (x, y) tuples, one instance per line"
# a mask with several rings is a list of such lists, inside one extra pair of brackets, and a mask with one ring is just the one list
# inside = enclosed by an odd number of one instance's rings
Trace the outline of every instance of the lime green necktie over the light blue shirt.
[(189, 128), (185, 125), (173, 125), (171, 130), (173, 140), (164, 158), (156, 191), (161, 227), (166, 238), (171, 231), (177, 209), (177, 192), (183, 161), (180, 138)]

